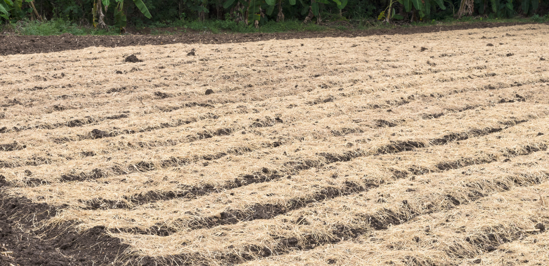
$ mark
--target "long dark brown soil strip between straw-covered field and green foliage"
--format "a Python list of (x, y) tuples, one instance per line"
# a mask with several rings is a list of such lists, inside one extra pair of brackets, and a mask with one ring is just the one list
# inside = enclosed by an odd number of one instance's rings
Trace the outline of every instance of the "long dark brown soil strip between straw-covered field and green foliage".
[(266, 41), (269, 39), (299, 39), (320, 37), (363, 37), (372, 35), (408, 35), (413, 33), (428, 33), (452, 30), (483, 29), (491, 27), (524, 25), (523, 22), (492, 23), (479, 22), (474, 24), (457, 24), (445, 26), (411, 26), (395, 29), (377, 29), (363, 31), (332, 31), (332, 32), (288, 32), (288, 33), (250, 33), (250, 34), (197, 34), (182, 35), (124, 35), (124, 36), (74, 36), (69, 34), (59, 36), (10, 36), (0, 35), (0, 55), (50, 53), (63, 50), (76, 50), (92, 46), (120, 47), (140, 46), (146, 44), (172, 43), (238, 43)]

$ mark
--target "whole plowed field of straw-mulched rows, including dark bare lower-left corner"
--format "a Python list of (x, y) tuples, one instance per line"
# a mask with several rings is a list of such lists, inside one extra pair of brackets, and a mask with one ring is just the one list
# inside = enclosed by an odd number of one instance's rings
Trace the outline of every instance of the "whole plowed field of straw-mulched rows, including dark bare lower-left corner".
[(0, 261), (547, 265), (548, 37), (0, 56)]

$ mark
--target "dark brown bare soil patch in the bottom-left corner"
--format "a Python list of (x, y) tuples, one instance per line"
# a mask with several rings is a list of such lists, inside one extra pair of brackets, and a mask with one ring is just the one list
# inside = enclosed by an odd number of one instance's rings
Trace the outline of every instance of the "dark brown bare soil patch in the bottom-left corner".
[[(5, 179), (0, 176), (0, 188), (3, 185)], [(106, 265), (124, 254), (128, 245), (105, 234), (103, 227), (82, 233), (72, 231), (66, 224), (48, 231), (33, 230), (41, 221), (55, 216), (57, 209), (46, 203), (32, 203), (24, 197), (0, 194), (0, 250), (13, 252), (0, 256), (0, 264)], [(82, 252), (82, 248), (86, 252)]]

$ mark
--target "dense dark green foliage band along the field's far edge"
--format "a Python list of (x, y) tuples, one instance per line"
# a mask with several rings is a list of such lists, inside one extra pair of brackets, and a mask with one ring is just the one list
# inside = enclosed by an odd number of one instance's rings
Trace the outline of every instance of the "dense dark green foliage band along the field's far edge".
[(62, 18), (80, 25), (166, 26), (177, 21), (299, 20), (316, 24), (547, 14), (549, 0), (0, 0), (0, 23)]

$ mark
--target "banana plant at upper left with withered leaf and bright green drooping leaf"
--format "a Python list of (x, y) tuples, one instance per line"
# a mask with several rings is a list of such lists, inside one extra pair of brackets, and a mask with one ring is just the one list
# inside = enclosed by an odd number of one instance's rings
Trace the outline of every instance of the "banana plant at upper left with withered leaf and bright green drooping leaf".
[[(136, 7), (145, 15), (147, 18), (152, 18), (152, 16), (149, 13), (149, 9), (147, 9), (147, 6), (145, 3), (143, 3), (142, 0), (132, 0), (133, 3), (136, 5)], [(97, 27), (100, 26), (102, 28), (106, 28), (107, 25), (105, 24), (103, 17), (103, 7), (105, 9), (105, 12), (107, 12), (107, 9), (109, 8), (111, 0), (94, 0), (93, 1), (93, 26)], [(127, 25), (127, 19), (126, 15), (124, 14), (124, 0), (113, 0), (113, 2), (116, 3), (116, 8), (114, 10), (114, 24), (115, 27), (120, 29), (121, 33), (124, 33), (126, 31), (126, 25)], [(96, 22), (97, 20), (97, 22)]]

